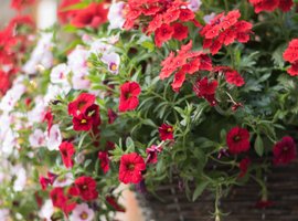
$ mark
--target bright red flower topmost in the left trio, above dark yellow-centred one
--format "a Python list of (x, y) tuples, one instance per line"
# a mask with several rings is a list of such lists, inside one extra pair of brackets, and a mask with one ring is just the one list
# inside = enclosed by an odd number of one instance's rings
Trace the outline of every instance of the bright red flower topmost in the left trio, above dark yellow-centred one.
[(84, 114), (89, 106), (95, 102), (95, 96), (88, 93), (82, 93), (78, 97), (68, 104), (68, 114), (72, 116), (78, 116)]

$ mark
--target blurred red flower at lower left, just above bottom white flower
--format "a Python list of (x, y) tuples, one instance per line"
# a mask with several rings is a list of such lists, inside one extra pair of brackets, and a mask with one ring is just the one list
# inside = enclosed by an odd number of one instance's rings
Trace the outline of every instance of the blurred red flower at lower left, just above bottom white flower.
[(54, 188), (50, 192), (52, 203), (60, 208), (64, 213), (70, 213), (75, 208), (76, 203), (71, 200), (71, 196), (65, 196), (63, 188)]

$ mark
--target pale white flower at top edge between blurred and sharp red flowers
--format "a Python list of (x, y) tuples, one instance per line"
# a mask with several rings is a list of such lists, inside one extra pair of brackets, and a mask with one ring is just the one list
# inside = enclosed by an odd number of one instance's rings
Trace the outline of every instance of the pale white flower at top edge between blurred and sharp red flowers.
[(125, 23), (124, 7), (125, 2), (123, 1), (111, 3), (111, 6), (109, 7), (107, 15), (109, 21), (109, 29), (123, 29)]

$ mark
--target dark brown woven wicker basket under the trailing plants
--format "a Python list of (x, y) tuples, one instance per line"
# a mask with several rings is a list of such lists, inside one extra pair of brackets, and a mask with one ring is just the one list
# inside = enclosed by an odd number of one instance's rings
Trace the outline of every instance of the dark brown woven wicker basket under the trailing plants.
[[(222, 199), (221, 209), (230, 214), (223, 221), (298, 221), (298, 164), (273, 168), (267, 177), (269, 200), (274, 204), (266, 209), (257, 209), (259, 186), (248, 182), (244, 187), (234, 187), (228, 197)], [(209, 221), (214, 220), (214, 199), (204, 193), (195, 202), (190, 202), (177, 183), (164, 185), (156, 193), (139, 194), (148, 221)]]

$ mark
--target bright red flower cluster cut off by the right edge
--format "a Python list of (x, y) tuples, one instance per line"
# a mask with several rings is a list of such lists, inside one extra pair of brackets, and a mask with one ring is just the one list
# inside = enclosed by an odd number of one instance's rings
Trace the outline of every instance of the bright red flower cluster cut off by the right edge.
[(294, 39), (289, 42), (288, 49), (284, 53), (284, 59), (288, 61), (291, 66), (287, 70), (291, 76), (298, 75), (298, 39)]

